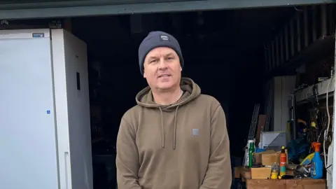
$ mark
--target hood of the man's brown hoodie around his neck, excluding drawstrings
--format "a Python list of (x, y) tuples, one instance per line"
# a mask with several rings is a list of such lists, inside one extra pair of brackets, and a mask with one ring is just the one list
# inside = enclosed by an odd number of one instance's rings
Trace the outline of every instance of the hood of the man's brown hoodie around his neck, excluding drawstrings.
[(176, 107), (183, 106), (184, 104), (193, 101), (193, 99), (196, 99), (201, 94), (201, 88), (190, 78), (181, 78), (180, 86), (181, 90), (183, 90), (183, 95), (181, 99), (174, 104), (156, 104), (153, 99), (152, 90), (149, 86), (141, 90), (135, 97), (135, 100), (139, 106), (144, 106), (146, 108), (160, 108), (162, 111), (174, 111)]

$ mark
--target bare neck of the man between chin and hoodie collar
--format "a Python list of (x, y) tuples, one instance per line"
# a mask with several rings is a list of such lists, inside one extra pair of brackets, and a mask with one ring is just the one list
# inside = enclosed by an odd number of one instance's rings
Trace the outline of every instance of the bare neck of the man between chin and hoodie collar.
[(169, 105), (174, 104), (175, 102), (179, 101), (181, 98), (183, 91), (181, 90), (181, 87), (176, 87), (176, 90), (171, 91), (153, 91), (153, 98), (156, 104), (160, 105)]

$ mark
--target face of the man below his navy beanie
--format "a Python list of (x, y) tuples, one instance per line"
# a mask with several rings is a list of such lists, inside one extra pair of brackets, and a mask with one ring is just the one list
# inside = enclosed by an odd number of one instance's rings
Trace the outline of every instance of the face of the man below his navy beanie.
[(144, 61), (144, 78), (151, 88), (169, 90), (180, 85), (182, 67), (172, 48), (154, 48)]

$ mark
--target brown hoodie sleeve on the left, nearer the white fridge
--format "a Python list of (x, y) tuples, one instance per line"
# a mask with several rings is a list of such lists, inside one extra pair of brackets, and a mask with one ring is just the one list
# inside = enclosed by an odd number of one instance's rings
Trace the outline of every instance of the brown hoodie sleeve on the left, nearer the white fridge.
[(121, 120), (117, 137), (117, 182), (119, 189), (141, 189), (138, 183), (139, 153), (135, 128)]

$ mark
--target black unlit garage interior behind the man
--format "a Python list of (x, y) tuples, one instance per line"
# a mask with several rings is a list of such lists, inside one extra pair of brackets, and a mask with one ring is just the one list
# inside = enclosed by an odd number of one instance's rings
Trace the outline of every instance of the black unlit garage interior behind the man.
[[(111, 189), (116, 186), (114, 160), (120, 119), (136, 105), (135, 95), (147, 85), (139, 71), (138, 48), (148, 32), (160, 30), (175, 36), (185, 60), (182, 76), (192, 78), (200, 85), (203, 94), (221, 102), (227, 116), (233, 168), (241, 165), (244, 157), (253, 106), (261, 104), (260, 113), (266, 114), (264, 103), (267, 94), (264, 90), (267, 80), (296, 74), (295, 67), (267, 71), (265, 50), (269, 49), (266, 44), (274, 40), (295, 14), (302, 13), (304, 8), (310, 14), (313, 7), (8, 20), (1, 22), (0, 29), (66, 27), (70, 23), (67, 30), (85, 41), (89, 64), (94, 188)], [(68, 24), (64, 24), (64, 20)], [(333, 29), (330, 27), (328, 34), (334, 32)], [(325, 53), (330, 54), (330, 51)], [(313, 79), (309, 85), (315, 83), (318, 73), (323, 72), (320, 69), (315, 66), (316, 75), (311, 76)]]

